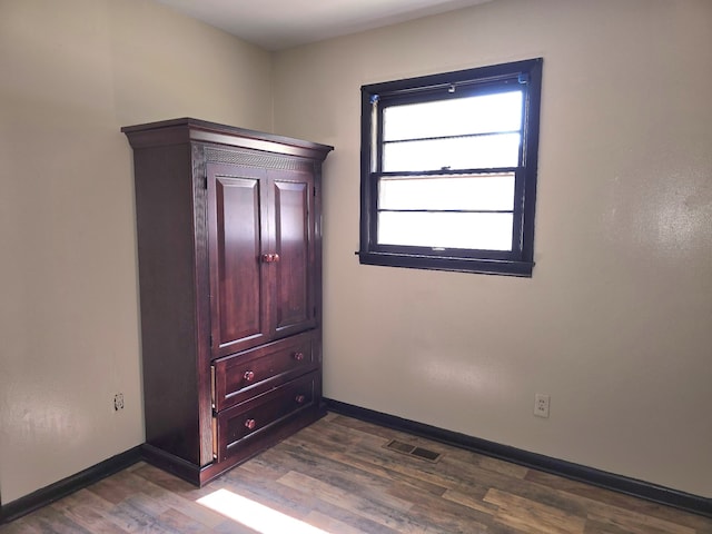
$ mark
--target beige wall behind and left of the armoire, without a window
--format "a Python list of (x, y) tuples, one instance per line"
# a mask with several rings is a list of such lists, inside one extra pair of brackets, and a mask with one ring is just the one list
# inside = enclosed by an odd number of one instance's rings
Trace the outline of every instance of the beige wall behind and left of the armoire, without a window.
[(144, 439), (119, 128), (186, 116), (269, 131), (270, 56), (144, 0), (0, 0), (3, 503)]

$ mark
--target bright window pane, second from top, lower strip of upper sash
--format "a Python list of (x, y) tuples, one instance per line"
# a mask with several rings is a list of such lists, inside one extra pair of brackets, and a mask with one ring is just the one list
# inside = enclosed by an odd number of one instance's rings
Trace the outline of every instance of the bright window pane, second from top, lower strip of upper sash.
[(516, 167), (520, 135), (388, 142), (383, 150), (384, 172)]

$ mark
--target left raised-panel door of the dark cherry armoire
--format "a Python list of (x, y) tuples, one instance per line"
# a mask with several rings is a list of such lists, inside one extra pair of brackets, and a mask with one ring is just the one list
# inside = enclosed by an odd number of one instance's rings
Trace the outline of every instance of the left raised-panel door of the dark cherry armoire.
[(211, 354), (226, 356), (269, 337), (264, 169), (208, 164)]

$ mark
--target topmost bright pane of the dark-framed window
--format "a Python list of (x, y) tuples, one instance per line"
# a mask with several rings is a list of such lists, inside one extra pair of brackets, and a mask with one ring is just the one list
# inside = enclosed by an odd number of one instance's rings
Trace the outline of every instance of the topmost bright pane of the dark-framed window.
[(522, 91), (390, 106), (383, 111), (384, 140), (422, 139), (522, 128)]

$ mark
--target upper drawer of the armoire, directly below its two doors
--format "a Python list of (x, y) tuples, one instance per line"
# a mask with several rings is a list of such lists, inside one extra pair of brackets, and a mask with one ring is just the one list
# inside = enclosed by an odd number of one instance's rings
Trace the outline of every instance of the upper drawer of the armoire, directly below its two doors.
[(299, 334), (212, 363), (212, 408), (220, 412), (318, 367), (314, 332)]

